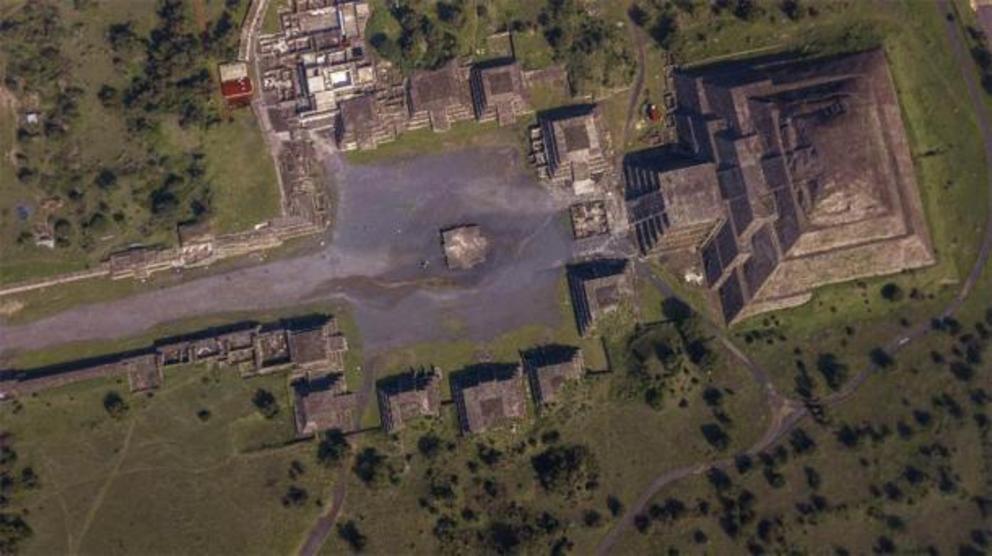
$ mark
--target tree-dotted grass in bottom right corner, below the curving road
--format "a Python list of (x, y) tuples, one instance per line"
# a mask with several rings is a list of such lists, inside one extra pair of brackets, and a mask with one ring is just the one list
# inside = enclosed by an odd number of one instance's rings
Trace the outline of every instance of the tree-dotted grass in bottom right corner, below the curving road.
[[(658, 553), (672, 547), (733, 552), (745, 540), (760, 538), (757, 531), (763, 520), (772, 524), (771, 540), (764, 543), (773, 551), (816, 552), (843, 546), (851, 553), (867, 553), (882, 537), (893, 542), (896, 553), (921, 552), (930, 546), (953, 553), (974, 543), (982, 537), (972, 532), (987, 527), (974, 501), (987, 492), (992, 471), (988, 428), (978, 424), (980, 415), (987, 418), (987, 405), (974, 393), (988, 385), (992, 369), (986, 363), (965, 382), (956, 380), (946, 366), (931, 362), (929, 351), (950, 357), (954, 343), (940, 334), (914, 346), (900, 356), (904, 363), (873, 376), (853, 399), (828, 411), (825, 423), (807, 419), (801, 427), (816, 447), (796, 453), (789, 441), (781, 443), (789, 453), (787, 462), (776, 465), (783, 485), (772, 486), (757, 461), (746, 473), (728, 471), (735, 484), (731, 498), (744, 490), (754, 496), (750, 517), (733, 537), (717, 523), (721, 512), (714, 488), (699, 477), (663, 490), (654, 501), (679, 499), (689, 507), (685, 516), (654, 520), (644, 533), (630, 531), (616, 550)], [(877, 436), (867, 435), (848, 447), (837, 435), (845, 424), (870, 426)], [(925, 478), (907, 475), (910, 467)], [(815, 488), (806, 468), (821, 479)], [(826, 501), (824, 509), (800, 516), (798, 505), (810, 505), (814, 495)], [(714, 508), (709, 515), (698, 510), (699, 500)], [(706, 540), (694, 540), (696, 531), (702, 531)]]

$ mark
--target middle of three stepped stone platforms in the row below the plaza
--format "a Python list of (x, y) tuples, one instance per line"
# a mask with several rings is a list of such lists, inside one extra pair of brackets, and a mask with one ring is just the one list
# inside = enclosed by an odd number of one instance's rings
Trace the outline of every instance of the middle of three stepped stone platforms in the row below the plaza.
[(482, 364), (451, 377), (462, 433), (485, 432), (527, 415), (519, 365)]

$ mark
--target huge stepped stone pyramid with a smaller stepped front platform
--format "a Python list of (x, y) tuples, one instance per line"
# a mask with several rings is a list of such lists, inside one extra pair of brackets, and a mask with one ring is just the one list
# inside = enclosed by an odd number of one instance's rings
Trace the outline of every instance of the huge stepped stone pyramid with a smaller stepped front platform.
[(884, 53), (678, 72), (676, 149), (630, 157), (643, 254), (690, 253), (727, 322), (934, 262)]

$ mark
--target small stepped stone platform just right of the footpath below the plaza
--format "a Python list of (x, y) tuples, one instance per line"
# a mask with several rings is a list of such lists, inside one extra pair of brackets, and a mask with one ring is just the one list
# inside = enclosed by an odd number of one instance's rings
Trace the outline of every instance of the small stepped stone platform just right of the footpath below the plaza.
[(399, 431), (418, 417), (441, 414), (441, 371), (434, 367), (384, 378), (376, 388), (382, 428)]

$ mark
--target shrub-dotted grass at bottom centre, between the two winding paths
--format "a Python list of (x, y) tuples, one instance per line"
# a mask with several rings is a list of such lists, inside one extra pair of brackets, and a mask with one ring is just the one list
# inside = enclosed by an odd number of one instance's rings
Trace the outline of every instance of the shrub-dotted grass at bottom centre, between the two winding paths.
[[(620, 349), (624, 349), (622, 342)], [(433, 353), (458, 357), (449, 351), (448, 346), (437, 346)], [(486, 350), (486, 357), (494, 361), (510, 360), (514, 355)], [(419, 363), (437, 361), (427, 353), (419, 358), (412, 353), (407, 356), (408, 361)], [(467, 350), (461, 357), (471, 362)], [(726, 453), (747, 446), (761, 433), (768, 419), (762, 393), (750, 386), (745, 371), (730, 364), (723, 354), (714, 368), (708, 375), (697, 375), (700, 382), (687, 390), (684, 402), (673, 398), (661, 410), (622, 394), (625, 371), (615, 369), (570, 386), (555, 408), (543, 411), (539, 419), (532, 416), (518, 422), (512, 430), (459, 437), (453, 406), (447, 405), (439, 420), (420, 420), (393, 436), (378, 432), (365, 435), (355, 450), (373, 447), (385, 455), (386, 465), (395, 471), (395, 482), (370, 487), (349, 475), (349, 502), (339, 523), (353, 520), (368, 538), (366, 550), (370, 553), (402, 548), (408, 553), (433, 554), (486, 550), (481, 548), (484, 546), (492, 549), (487, 542), (493, 526), (533, 523), (547, 513), (558, 522), (558, 533), (553, 538), (540, 532), (522, 536), (516, 550), (547, 551), (561, 534), (574, 542), (579, 553), (587, 553), (613, 522), (608, 497), (629, 504), (660, 470), (714, 457), (716, 451), (699, 432), (699, 426), (712, 419), (711, 410), (700, 397), (704, 386), (727, 392), (722, 409), (734, 424), (730, 425), (731, 442)], [(446, 387), (442, 392), (447, 396)], [(440, 439), (442, 448), (435, 457), (418, 451), (418, 442), (428, 434)], [(565, 498), (545, 492), (535, 480), (531, 459), (555, 443), (580, 444), (590, 450), (598, 469), (598, 486), (588, 495)], [(480, 446), (491, 447), (502, 456), (495, 463), (486, 463), (479, 455)], [(457, 485), (451, 500), (438, 498), (436, 488), (444, 483)], [(488, 488), (499, 494), (486, 494)], [(599, 512), (602, 520), (586, 526), (583, 516), (590, 510)], [(439, 540), (443, 535), (435, 527), (442, 519), (451, 520), (453, 540)], [(481, 537), (474, 540), (477, 533)], [(332, 537), (323, 553), (347, 549), (344, 541)]]

